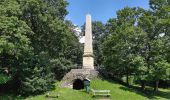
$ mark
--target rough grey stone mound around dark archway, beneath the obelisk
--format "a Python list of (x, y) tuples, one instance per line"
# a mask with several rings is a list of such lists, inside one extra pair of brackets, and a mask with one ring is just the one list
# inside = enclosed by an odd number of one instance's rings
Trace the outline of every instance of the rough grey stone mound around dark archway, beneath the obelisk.
[(92, 69), (72, 69), (62, 79), (61, 87), (73, 87), (73, 82), (76, 79), (84, 80), (85, 78), (94, 79), (98, 76), (98, 71)]

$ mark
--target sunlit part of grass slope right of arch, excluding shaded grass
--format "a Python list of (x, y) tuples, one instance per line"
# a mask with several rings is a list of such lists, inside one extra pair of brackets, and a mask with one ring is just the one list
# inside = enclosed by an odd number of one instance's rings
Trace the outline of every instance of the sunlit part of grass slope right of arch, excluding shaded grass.
[(136, 91), (129, 91), (125, 86), (107, 80), (96, 80), (92, 82), (94, 89), (106, 89), (111, 91), (113, 100), (144, 100), (147, 99), (143, 95), (139, 95)]

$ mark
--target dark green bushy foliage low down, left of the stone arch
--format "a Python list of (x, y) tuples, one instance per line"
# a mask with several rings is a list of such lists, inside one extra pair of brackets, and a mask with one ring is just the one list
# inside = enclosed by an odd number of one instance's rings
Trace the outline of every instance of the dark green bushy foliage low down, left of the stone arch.
[(19, 92), (28, 95), (52, 89), (55, 78), (48, 54), (42, 52), (40, 55), (27, 57), (27, 64), (22, 65), (25, 69), (24, 74), (20, 75), (22, 79)]

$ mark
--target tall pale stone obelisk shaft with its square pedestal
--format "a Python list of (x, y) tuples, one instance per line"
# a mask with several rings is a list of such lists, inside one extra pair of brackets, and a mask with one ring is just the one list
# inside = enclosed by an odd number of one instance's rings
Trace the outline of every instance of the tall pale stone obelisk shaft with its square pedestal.
[(91, 25), (90, 14), (86, 15), (83, 68), (94, 69), (93, 46), (92, 46), (92, 25)]

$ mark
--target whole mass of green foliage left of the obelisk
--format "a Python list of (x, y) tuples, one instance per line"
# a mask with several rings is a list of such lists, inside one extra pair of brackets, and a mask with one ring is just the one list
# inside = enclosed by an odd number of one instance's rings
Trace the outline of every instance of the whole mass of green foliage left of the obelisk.
[(78, 38), (63, 21), (66, 6), (64, 0), (0, 1), (0, 67), (18, 92), (47, 91), (54, 76), (77, 63)]

